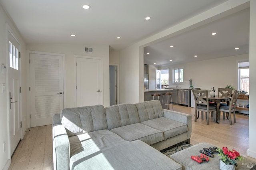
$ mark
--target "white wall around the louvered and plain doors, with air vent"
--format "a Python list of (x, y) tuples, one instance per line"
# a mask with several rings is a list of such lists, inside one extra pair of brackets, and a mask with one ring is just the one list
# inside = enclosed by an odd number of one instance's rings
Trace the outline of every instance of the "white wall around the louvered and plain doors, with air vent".
[[(93, 53), (84, 51), (92, 47)], [(103, 98), (104, 107), (109, 106), (109, 46), (93, 44), (28, 44), (27, 50), (62, 53), (66, 55), (66, 107), (74, 107), (74, 55), (103, 58)], [(28, 56), (27, 56), (28, 57)]]

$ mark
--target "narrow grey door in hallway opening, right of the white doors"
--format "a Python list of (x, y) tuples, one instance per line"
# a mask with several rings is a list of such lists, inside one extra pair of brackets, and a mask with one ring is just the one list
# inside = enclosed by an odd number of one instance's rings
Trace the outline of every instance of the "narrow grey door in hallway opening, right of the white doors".
[(110, 97), (110, 106), (116, 105), (116, 65), (109, 66), (109, 97)]

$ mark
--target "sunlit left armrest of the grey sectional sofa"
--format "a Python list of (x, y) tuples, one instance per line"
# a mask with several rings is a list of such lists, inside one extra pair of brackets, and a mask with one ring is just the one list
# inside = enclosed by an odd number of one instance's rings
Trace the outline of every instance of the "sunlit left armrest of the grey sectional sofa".
[(69, 170), (70, 144), (65, 127), (61, 124), (60, 114), (53, 115), (52, 149), (54, 170)]

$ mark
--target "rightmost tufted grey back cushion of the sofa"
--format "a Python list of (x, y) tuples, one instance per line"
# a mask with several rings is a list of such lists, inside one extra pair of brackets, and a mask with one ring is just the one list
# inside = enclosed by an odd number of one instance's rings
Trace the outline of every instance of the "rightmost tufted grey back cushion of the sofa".
[(162, 105), (159, 100), (145, 101), (135, 104), (140, 117), (140, 122), (164, 117)]

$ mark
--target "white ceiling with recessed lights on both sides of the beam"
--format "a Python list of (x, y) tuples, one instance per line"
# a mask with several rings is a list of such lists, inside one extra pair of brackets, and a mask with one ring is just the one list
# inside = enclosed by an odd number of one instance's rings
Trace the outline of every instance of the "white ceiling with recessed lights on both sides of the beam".
[[(0, 0), (24, 41), (107, 44), (120, 50), (228, 0)], [(84, 10), (82, 5), (91, 8)], [(150, 16), (150, 20), (145, 20)], [(238, 19), (236, 19), (238, 18)], [(145, 47), (145, 63), (168, 65), (248, 53), (248, 10)], [(210, 33), (217, 32), (215, 37)], [(70, 34), (76, 34), (71, 37)], [(121, 39), (116, 39), (120, 36)], [(206, 43), (207, 42), (207, 43)], [(170, 49), (170, 45), (174, 48)], [(234, 51), (239, 46), (240, 51)], [(230, 53), (231, 52), (231, 53)], [(155, 59), (157, 57), (157, 59)]]

